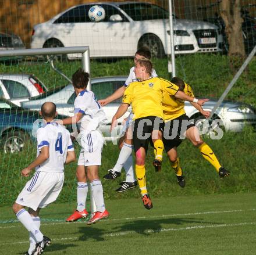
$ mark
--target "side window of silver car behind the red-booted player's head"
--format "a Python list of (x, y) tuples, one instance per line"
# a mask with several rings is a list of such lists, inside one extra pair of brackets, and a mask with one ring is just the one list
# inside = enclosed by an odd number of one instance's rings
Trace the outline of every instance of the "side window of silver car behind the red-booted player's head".
[[(112, 95), (116, 89), (122, 87), (124, 84), (125, 81), (105, 81), (94, 83), (91, 87), (96, 99), (99, 100)], [(74, 99), (76, 99), (76, 95), (73, 93), (69, 100), (67, 100), (67, 103), (73, 105)], [(116, 99), (112, 103), (122, 103), (122, 98)]]

